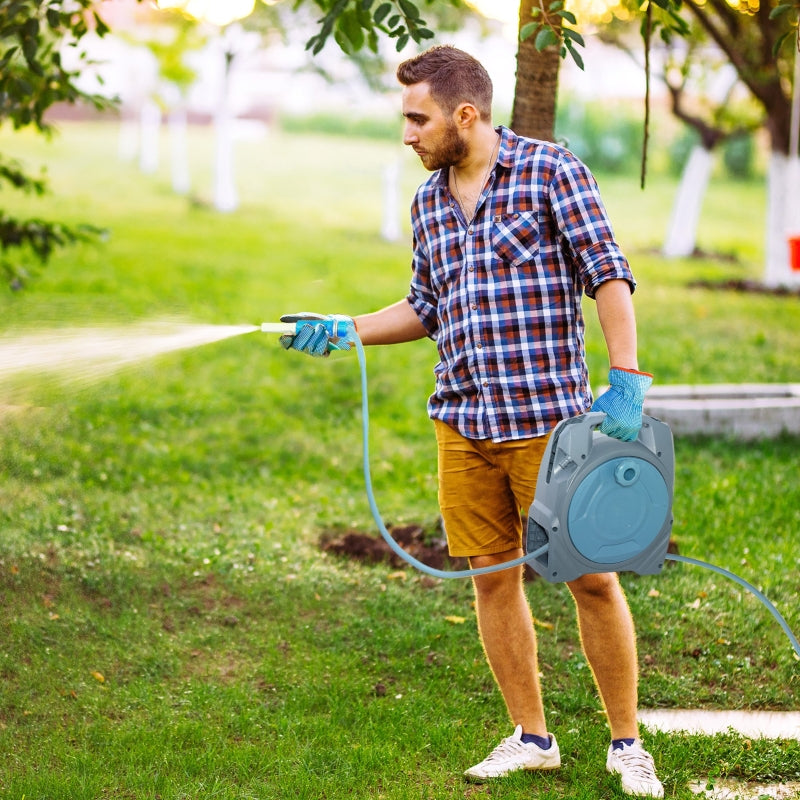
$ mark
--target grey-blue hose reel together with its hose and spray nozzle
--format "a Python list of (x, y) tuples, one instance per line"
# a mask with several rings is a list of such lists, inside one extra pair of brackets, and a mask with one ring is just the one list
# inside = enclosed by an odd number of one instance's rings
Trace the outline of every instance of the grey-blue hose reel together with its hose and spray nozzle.
[[(302, 318), (301, 318), (302, 317)], [(291, 319), (291, 318), (290, 318)], [(440, 570), (407, 553), (389, 533), (375, 500), (369, 456), (369, 402), (364, 346), (338, 319), (264, 322), (262, 333), (296, 335), (303, 326), (324, 325), (329, 336), (355, 342), (361, 373), (361, 423), (364, 484), (370, 511), (381, 536), (405, 562), (434, 578), (465, 578), (529, 564), (551, 583), (598, 572), (659, 574), (665, 561), (709, 569), (738, 583), (772, 614), (800, 659), (800, 641), (770, 600), (729, 570), (667, 552), (672, 530), (674, 451), (666, 423), (644, 416), (638, 439), (621, 442), (601, 434), (605, 414), (590, 412), (562, 420), (548, 441), (529, 510), (525, 555), (491, 567)], [(349, 346), (349, 345), (348, 345)], [(602, 507), (601, 507), (602, 506)], [(612, 511), (613, 509), (613, 511)]]

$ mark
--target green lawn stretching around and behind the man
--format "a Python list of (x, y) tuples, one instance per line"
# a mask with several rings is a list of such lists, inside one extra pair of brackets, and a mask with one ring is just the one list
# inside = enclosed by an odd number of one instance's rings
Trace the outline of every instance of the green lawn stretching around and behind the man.
[[(277, 132), (242, 142), (242, 207), (219, 215), (207, 131), (193, 133), (191, 200), (171, 194), (166, 165), (143, 176), (120, 163), (113, 125), (67, 125), (50, 144), (2, 131), (0, 146), (48, 164), (54, 195), (36, 208), (112, 231), (0, 297), (0, 328), (21, 339), (358, 313), (405, 292), (408, 244), (377, 233), (383, 165), (402, 158), (406, 198), (424, 177), (399, 147)], [(796, 299), (688, 286), (759, 277), (762, 187), (712, 186), (700, 246), (724, 258), (666, 262), (674, 183), (651, 176), (641, 193), (635, 176), (599, 177), (640, 283), (643, 366), (662, 383), (797, 381)], [(429, 342), (368, 353), (373, 478), (390, 522), (437, 518), (433, 361)], [(27, 411), (0, 426), (0, 797), (622, 796), (564, 586), (528, 589), (564, 768), (469, 787), (461, 771), (508, 723), (468, 583), (320, 551), (324, 531), (374, 530), (355, 359), (292, 357), (253, 335), (94, 381), (65, 366), (3, 386), (3, 403)], [(797, 447), (679, 439), (674, 529), (683, 554), (760, 586), (795, 631)], [(797, 661), (757, 600), (685, 565), (623, 582), (643, 706), (798, 707)], [(669, 797), (709, 774), (800, 778), (796, 741), (645, 740)]]

